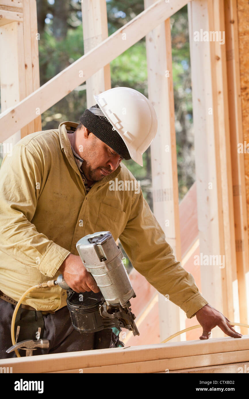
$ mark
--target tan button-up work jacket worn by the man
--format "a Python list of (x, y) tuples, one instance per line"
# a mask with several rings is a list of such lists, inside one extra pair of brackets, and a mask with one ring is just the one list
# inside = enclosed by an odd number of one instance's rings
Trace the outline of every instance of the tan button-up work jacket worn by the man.
[[(109, 182), (132, 180), (124, 164), (86, 193), (67, 129), (22, 138), (0, 168), (0, 290), (19, 300), (30, 286), (56, 279), (77, 241), (110, 231), (120, 239), (133, 267), (161, 294), (193, 317), (208, 302), (185, 271), (140, 190), (110, 190)], [(134, 184), (136, 186), (136, 183)], [(66, 306), (59, 286), (36, 289), (24, 304), (37, 310)]]

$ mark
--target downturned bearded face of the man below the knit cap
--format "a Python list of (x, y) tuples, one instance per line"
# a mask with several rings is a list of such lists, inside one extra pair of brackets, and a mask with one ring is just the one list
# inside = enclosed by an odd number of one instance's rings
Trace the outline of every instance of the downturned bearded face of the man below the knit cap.
[(75, 144), (79, 149), (79, 155), (84, 159), (82, 170), (88, 180), (102, 180), (114, 172), (122, 161), (117, 152), (89, 132), (85, 126), (76, 131)]

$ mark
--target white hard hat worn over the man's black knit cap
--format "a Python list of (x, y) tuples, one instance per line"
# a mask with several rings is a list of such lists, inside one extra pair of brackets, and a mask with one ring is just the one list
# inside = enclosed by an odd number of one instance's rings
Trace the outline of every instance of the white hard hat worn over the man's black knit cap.
[(151, 102), (129, 87), (114, 87), (94, 95), (94, 99), (124, 140), (133, 161), (143, 166), (142, 154), (157, 132), (157, 116)]

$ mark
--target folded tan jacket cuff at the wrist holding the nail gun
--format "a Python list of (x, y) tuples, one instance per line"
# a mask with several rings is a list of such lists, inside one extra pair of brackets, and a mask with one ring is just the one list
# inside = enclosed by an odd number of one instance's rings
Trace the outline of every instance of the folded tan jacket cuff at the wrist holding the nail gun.
[(38, 265), (38, 270), (44, 276), (54, 277), (69, 254), (70, 251), (67, 249), (60, 247), (60, 245), (56, 243), (52, 243), (44, 253)]

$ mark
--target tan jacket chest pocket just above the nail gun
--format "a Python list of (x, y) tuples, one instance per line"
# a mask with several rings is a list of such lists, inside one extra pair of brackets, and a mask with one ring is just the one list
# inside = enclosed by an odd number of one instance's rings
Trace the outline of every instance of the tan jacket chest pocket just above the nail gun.
[(106, 203), (100, 203), (98, 218), (94, 227), (95, 232), (110, 231), (116, 240), (124, 230), (125, 224), (124, 211), (107, 205)]

